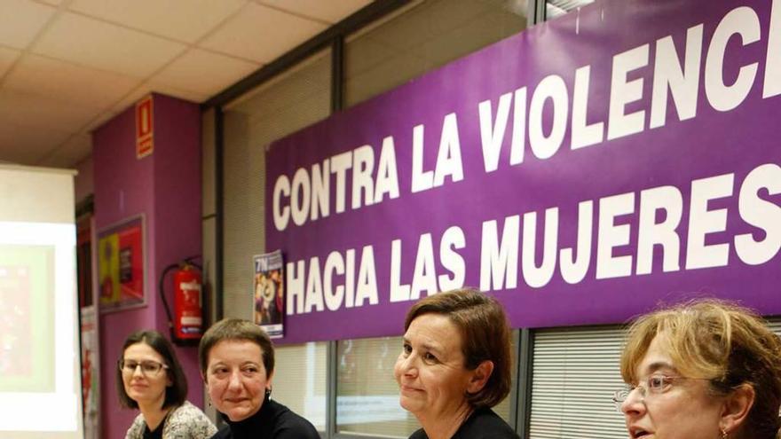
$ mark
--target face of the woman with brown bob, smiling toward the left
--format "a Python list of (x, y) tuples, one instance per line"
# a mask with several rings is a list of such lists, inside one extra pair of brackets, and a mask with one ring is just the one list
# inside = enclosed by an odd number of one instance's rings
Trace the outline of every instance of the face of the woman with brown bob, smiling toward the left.
[(464, 367), (461, 331), (441, 314), (415, 317), (404, 334), (394, 375), (399, 403), (418, 419), (437, 419), (467, 407), (474, 374)]

